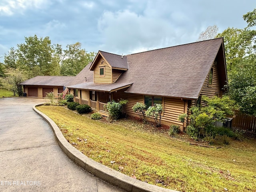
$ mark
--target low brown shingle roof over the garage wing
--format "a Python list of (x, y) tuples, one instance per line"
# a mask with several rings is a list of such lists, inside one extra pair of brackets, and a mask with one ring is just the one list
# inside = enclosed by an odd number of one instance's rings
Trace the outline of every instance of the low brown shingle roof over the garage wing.
[(40, 86), (66, 86), (72, 80), (74, 76), (36, 76), (34, 78), (28, 79), (21, 85), (40, 85)]

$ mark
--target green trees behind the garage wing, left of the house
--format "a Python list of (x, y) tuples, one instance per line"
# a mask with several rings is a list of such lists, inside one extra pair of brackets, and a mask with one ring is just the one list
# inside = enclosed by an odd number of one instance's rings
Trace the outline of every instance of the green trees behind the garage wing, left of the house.
[(76, 76), (96, 56), (86, 52), (81, 43), (51, 44), (50, 38), (25, 37), (17, 48), (10, 48), (0, 63), (0, 88), (20, 92), (18, 84), (35, 76)]

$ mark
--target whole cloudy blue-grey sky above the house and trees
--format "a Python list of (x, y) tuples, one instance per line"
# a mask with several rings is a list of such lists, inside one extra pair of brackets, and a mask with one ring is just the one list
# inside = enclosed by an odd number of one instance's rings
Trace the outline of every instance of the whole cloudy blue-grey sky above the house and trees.
[(217, 25), (244, 28), (255, 0), (0, 0), (0, 61), (24, 37), (130, 54), (195, 42)]

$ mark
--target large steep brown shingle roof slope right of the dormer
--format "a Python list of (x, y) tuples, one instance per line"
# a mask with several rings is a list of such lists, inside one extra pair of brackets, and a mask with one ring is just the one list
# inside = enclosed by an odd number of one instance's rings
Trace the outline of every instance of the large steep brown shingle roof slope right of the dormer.
[(127, 55), (129, 70), (116, 82), (133, 82), (126, 92), (198, 98), (223, 38)]

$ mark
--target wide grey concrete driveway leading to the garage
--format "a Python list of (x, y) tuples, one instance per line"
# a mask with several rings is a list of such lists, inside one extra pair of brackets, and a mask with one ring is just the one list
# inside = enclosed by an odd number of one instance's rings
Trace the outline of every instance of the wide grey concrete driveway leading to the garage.
[(37, 98), (0, 98), (0, 191), (123, 192), (76, 166), (32, 106)]

